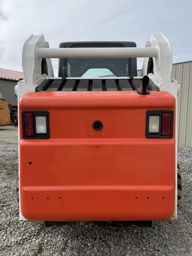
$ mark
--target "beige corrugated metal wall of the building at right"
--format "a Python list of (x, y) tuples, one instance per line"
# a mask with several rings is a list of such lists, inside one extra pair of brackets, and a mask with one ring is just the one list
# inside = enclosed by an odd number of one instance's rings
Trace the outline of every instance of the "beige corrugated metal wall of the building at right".
[[(141, 70), (137, 70), (141, 76)], [(180, 84), (178, 95), (178, 146), (192, 147), (192, 61), (173, 64), (171, 77)]]

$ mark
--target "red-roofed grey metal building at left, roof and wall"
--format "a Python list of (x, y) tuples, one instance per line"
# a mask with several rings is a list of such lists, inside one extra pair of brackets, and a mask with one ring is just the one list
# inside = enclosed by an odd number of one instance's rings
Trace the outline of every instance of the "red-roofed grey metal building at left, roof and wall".
[(23, 78), (23, 72), (0, 68), (0, 99), (4, 99), (7, 103), (17, 106), (15, 85), (19, 79)]

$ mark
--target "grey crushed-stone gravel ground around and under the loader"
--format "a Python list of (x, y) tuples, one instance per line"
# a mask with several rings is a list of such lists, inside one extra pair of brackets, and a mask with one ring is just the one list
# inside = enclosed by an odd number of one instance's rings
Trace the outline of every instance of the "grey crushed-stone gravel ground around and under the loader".
[(152, 228), (45, 228), (18, 219), (17, 128), (0, 127), (0, 255), (192, 255), (192, 148), (179, 147), (178, 162), (183, 190), (178, 221), (156, 221)]

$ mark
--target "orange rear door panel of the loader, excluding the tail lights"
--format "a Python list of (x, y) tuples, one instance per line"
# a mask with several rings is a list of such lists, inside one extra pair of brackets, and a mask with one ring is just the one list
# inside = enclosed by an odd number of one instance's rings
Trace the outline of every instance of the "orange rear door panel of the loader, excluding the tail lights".
[[(173, 110), (167, 92), (34, 92), (21, 112), (47, 110), (50, 139), (23, 139), (21, 212), (28, 220), (160, 220), (175, 207), (175, 130), (145, 138), (147, 110)], [(103, 123), (101, 131), (92, 128)], [(174, 120), (175, 127), (175, 120)], [(32, 164), (30, 165), (29, 162)]]

